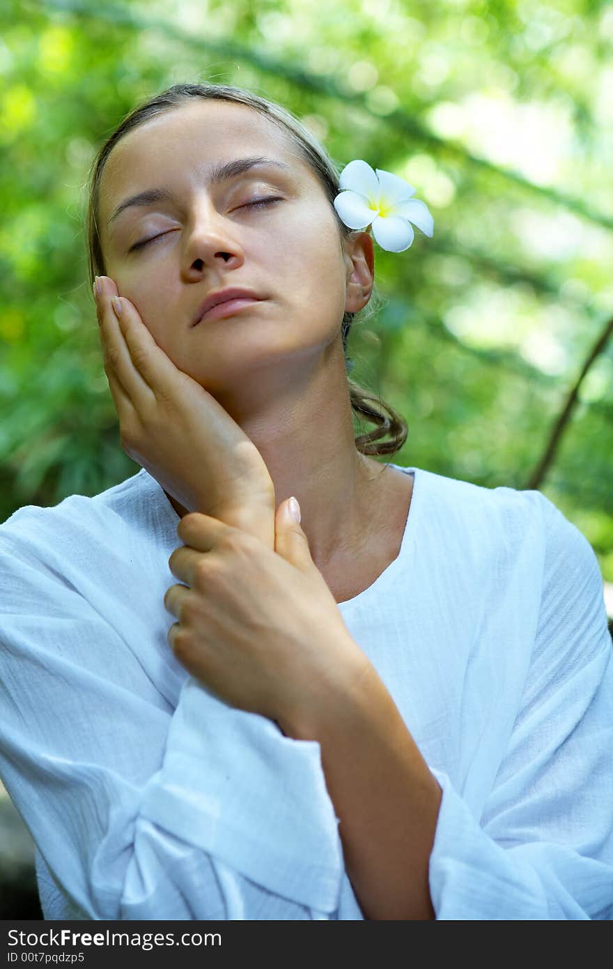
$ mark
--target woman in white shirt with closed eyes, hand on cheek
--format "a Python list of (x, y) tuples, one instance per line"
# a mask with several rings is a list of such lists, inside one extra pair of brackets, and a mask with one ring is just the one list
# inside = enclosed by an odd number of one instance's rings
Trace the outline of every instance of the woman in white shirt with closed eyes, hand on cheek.
[(0, 772), (47, 919), (613, 915), (598, 561), (537, 491), (382, 468), (402, 426), (354, 441), (374, 254), (338, 189), (223, 85), (140, 106), (94, 164), (142, 470), (0, 527)]

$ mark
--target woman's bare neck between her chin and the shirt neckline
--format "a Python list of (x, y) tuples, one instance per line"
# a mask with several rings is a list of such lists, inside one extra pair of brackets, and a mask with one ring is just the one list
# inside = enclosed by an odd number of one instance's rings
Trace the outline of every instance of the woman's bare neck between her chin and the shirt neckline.
[[(356, 553), (366, 540), (378, 501), (383, 466), (358, 453), (339, 341), (308, 371), (277, 360), (270, 379), (252, 374), (240, 393), (215, 397), (254, 442), (275, 489), (275, 507), (295, 495), (313, 561), (322, 569)], [(281, 375), (281, 378), (280, 378)], [(262, 387), (265, 389), (262, 392)], [(186, 514), (169, 497), (179, 516)]]

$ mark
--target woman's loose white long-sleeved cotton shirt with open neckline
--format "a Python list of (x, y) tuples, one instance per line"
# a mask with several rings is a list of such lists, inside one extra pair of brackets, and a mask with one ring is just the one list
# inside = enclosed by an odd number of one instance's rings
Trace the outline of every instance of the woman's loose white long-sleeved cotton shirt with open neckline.
[[(539, 491), (401, 470), (400, 553), (338, 608), (443, 789), (437, 918), (612, 919), (594, 550)], [(178, 521), (140, 470), (0, 525), (0, 775), (45, 917), (361, 919), (319, 742), (223, 703), (172, 654)]]

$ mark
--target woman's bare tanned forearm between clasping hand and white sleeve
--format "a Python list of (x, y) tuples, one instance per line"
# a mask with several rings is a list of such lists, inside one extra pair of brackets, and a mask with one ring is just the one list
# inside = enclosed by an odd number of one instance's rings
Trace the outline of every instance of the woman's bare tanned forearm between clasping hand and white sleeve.
[(443, 792), (368, 664), (351, 696), (292, 735), (322, 749), (326, 787), (366, 919), (432, 920), (428, 866)]

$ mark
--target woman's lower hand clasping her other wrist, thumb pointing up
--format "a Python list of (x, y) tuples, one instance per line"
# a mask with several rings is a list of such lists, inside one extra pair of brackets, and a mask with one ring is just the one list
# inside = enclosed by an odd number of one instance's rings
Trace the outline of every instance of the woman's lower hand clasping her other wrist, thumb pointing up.
[(306, 535), (277, 509), (275, 551), (205, 515), (181, 519), (166, 609), (178, 661), (226, 703), (315, 737), (372, 669), (347, 629)]

